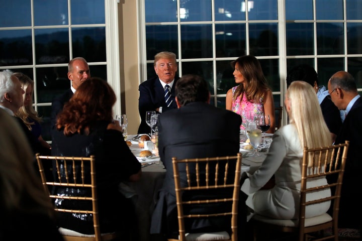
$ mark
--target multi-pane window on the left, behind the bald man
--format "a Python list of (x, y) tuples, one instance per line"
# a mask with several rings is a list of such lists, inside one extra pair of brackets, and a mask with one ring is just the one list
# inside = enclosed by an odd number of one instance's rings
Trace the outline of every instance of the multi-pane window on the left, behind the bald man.
[(34, 106), (43, 117), (44, 140), (51, 140), (51, 101), (70, 87), (70, 59), (84, 57), (92, 76), (119, 79), (111, 78), (116, 71), (107, 73), (107, 65), (119, 68), (106, 44), (107, 38), (116, 39), (110, 31), (112, 8), (117, 8), (116, 1), (105, 5), (100, 0), (13, 0), (3, 5), (0, 70), (23, 72), (34, 80)]

